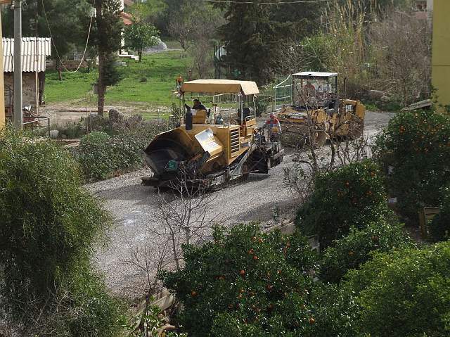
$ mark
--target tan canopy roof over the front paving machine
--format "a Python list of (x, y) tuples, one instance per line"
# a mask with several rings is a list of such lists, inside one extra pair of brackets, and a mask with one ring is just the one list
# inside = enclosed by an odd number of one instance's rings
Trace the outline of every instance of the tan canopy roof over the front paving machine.
[(228, 94), (243, 92), (244, 95), (259, 94), (258, 87), (253, 81), (236, 80), (194, 80), (184, 82), (182, 92), (204, 92), (207, 94)]

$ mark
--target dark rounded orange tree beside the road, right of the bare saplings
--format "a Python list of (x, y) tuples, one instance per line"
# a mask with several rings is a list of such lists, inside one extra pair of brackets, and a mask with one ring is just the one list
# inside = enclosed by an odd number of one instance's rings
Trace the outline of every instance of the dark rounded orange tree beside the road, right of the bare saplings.
[(317, 234), (321, 248), (363, 229), (388, 214), (387, 196), (378, 165), (371, 160), (319, 174), (314, 193), (297, 212), (296, 225), (304, 234)]

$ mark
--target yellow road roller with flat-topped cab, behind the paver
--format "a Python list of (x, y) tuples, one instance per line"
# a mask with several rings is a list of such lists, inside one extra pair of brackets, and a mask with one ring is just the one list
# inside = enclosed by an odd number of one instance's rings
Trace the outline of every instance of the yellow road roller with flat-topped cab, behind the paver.
[(309, 142), (319, 148), (330, 138), (363, 134), (366, 108), (360, 101), (338, 97), (338, 73), (297, 72), (292, 79), (292, 106), (277, 113), (283, 144)]

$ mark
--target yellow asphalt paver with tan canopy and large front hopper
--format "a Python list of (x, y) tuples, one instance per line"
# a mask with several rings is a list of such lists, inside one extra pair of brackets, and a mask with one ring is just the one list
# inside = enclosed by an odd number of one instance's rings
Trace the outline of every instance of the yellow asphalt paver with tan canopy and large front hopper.
[[(194, 80), (181, 86), (184, 121), (155, 136), (144, 151), (153, 177), (148, 186), (176, 186), (181, 180), (205, 189), (219, 189), (249, 173), (267, 173), (283, 160), (276, 139), (257, 127), (254, 96), (257, 84), (250, 81)], [(195, 110), (186, 105), (186, 95), (200, 100), (229, 95), (235, 105), (213, 103), (212, 109)], [(219, 99), (218, 99), (219, 101)]]

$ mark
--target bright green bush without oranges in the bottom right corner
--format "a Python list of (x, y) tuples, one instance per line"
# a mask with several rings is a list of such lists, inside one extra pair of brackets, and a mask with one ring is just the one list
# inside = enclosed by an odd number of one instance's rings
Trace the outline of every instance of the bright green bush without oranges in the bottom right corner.
[[(450, 243), (377, 254), (344, 284), (356, 295), (355, 336), (449, 336)], [(342, 283), (341, 283), (342, 284)]]

